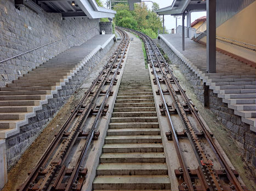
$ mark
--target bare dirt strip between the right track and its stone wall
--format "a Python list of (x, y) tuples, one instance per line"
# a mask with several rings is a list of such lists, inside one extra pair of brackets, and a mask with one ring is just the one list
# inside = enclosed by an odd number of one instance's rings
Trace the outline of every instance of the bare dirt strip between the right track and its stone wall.
[(240, 174), (244, 184), (248, 190), (255, 190), (255, 170), (251, 165), (246, 163), (241, 157), (241, 150), (237, 147), (236, 142), (230, 138), (229, 133), (226, 131), (223, 124), (221, 124), (213, 112), (205, 108), (201, 102), (197, 99), (194, 89), (190, 82), (186, 80), (186, 77), (179, 70), (178, 64), (170, 64), (174, 75), (179, 79), (179, 83), (183, 89), (186, 89), (187, 96), (190, 97), (196, 108), (202, 115), (204, 121), (206, 121), (208, 127), (214, 134), (215, 139), (218, 140), (219, 144), (225, 151), (227, 157), (229, 157), (231, 163)]

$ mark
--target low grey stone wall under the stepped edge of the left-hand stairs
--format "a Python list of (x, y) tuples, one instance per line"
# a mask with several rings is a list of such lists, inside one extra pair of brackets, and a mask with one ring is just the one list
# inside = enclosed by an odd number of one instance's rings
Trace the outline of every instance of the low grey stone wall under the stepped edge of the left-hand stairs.
[(37, 138), (39, 133), (47, 126), (48, 122), (54, 117), (62, 105), (64, 105), (69, 97), (82, 85), (84, 79), (95, 66), (103, 58), (107, 51), (113, 45), (113, 40), (103, 49), (98, 51), (86, 66), (78, 71), (65, 86), (61, 86), (57, 94), (48, 100), (48, 104), (43, 105), (42, 110), (36, 111), (36, 116), (29, 118), (29, 123), (20, 127), (20, 133), (6, 139), (7, 166), (8, 169), (18, 161), (21, 154), (29, 147), (33, 140)]

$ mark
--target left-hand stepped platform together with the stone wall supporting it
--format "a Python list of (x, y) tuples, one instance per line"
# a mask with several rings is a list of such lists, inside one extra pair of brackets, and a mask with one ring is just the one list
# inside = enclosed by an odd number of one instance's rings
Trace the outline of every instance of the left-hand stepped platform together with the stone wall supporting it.
[(113, 34), (95, 35), (0, 88), (0, 174), (15, 164), (114, 40)]

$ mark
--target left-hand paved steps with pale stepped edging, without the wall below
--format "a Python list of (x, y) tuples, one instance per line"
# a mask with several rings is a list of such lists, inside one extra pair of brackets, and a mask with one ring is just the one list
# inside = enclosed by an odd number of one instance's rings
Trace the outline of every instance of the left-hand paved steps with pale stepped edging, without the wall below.
[(58, 89), (87, 65), (96, 52), (104, 49), (113, 35), (96, 35), (81, 46), (73, 46), (41, 64), (18, 80), (0, 88), (0, 139), (19, 133)]

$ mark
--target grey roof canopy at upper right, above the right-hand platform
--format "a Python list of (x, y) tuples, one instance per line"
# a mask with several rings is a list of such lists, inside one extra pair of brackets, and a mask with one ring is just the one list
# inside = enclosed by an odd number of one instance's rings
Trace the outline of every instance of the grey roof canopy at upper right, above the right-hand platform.
[(186, 11), (204, 11), (206, 1), (174, 0), (172, 5), (156, 10), (157, 15), (181, 15)]

